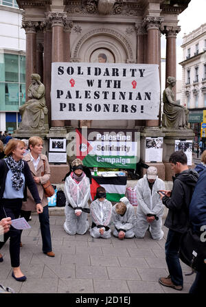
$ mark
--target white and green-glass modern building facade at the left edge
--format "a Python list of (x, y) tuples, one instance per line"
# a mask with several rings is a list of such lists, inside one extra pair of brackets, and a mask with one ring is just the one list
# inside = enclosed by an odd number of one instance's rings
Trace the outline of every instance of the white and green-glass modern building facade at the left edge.
[(25, 103), (25, 31), (15, 0), (0, 0), (0, 130), (12, 133)]

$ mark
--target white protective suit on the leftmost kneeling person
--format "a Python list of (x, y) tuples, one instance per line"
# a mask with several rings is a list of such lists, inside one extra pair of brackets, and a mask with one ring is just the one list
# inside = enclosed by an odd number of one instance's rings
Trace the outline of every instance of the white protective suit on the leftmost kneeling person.
[[(79, 183), (72, 178), (71, 173), (65, 181), (65, 196), (67, 202), (65, 205), (65, 224), (64, 228), (68, 234), (85, 234), (89, 229), (89, 222), (87, 220), (87, 213), (82, 212), (80, 216), (76, 216), (74, 209), (76, 207), (89, 208), (88, 200), (90, 196), (89, 178), (84, 175)], [(71, 207), (69, 207), (69, 204)], [(79, 210), (78, 210), (79, 211)], [(80, 211), (82, 211), (80, 209)]]

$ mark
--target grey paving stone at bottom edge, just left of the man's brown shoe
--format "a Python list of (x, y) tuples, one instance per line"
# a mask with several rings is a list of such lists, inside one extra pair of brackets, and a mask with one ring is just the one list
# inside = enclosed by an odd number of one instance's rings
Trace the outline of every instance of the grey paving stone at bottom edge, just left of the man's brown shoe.
[(164, 293), (159, 282), (128, 281), (131, 293)]

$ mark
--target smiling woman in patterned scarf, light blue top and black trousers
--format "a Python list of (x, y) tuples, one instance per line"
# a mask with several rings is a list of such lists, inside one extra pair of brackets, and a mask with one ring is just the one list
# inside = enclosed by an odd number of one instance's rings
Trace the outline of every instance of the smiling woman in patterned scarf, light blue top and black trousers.
[[(41, 198), (38, 195), (36, 184), (26, 161), (23, 161), (25, 144), (19, 139), (11, 139), (5, 147), (5, 159), (0, 160), (0, 220), (10, 217), (12, 220), (19, 218), (23, 199), (27, 197), (27, 187), (30, 189), (36, 203), (36, 212), (43, 212)], [(10, 227), (0, 242), (0, 249), (10, 238), (10, 258), (12, 264), (12, 277), (18, 282), (26, 280), (20, 269), (20, 240), (21, 231)], [(3, 257), (0, 253), (0, 262)]]

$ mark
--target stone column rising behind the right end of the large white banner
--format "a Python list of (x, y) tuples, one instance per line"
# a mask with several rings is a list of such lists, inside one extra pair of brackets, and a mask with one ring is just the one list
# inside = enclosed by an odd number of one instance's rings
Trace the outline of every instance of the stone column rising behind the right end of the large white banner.
[[(163, 21), (161, 16), (146, 16), (144, 25), (148, 32), (147, 62), (148, 64), (158, 64), (160, 58), (159, 50), (159, 26)], [(146, 120), (146, 126), (158, 127), (159, 119)]]

